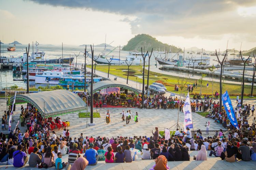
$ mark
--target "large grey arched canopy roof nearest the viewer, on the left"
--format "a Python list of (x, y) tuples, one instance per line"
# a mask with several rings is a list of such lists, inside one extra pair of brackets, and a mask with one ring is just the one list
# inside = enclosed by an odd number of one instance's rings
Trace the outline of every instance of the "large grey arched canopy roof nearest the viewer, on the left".
[[(11, 102), (14, 97), (11, 98)], [(67, 90), (53, 90), (16, 95), (16, 100), (33, 104), (45, 117), (53, 117), (83, 110), (86, 103), (75, 93)]]

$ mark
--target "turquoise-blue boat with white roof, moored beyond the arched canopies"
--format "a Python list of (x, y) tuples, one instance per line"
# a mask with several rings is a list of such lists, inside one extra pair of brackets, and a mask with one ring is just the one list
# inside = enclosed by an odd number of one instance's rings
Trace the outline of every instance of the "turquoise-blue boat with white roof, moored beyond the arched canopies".
[[(100, 82), (103, 81), (101, 77), (94, 77), (93, 82)], [(86, 86), (90, 85), (91, 83), (91, 77), (86, 77)], [(78, 86), (78, 87), (84, 87), (84, 77), (64, 77), (59, 80), (59, 85), (67, 86), (67, 85)]]

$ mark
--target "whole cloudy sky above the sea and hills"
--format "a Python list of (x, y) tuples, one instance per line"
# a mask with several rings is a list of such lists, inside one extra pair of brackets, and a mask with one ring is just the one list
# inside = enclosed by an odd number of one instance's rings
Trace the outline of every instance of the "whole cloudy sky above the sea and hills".
[[(256, 47), (255, 0), (0, 0), (0, 39), (124, 46), (149, 34), (180, 48)], [(242, 43), (242, 46), (241, 46)]]

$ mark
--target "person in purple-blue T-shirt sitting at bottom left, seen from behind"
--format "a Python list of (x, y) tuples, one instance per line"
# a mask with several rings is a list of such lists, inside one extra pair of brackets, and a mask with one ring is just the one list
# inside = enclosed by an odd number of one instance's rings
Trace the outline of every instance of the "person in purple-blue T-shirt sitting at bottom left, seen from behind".
[(17, 151), (13, 152), (13, 166), (16, 168), (23, 167), (28, 162), (28, 156), (22, 150), (23, 146), (18, 145)]

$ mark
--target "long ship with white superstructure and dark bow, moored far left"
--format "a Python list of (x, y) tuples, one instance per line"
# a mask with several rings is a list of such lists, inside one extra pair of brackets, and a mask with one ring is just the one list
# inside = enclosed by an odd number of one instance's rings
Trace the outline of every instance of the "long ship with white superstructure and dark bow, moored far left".
[[(45, 52), (44, 51), (38, 51), (38, 45), (39, 43), (35, 42), (35, 52), (32, 52), (31, 55), (28, 56), (28, 62), (33, 63), (43, 63), (43, 64), (71, 64), (74, 60), (73, 57), (69, 58), (58, 58), (58, 59), (46, 59), (45, 58)], [(27, 62), (27, 53), (23, 53), (22, 56), (18, 57), (1, 57), (0, 58), (1, 63), (25, 63)]]

